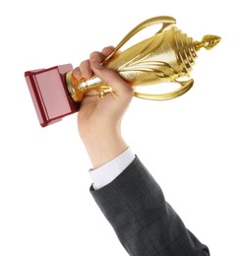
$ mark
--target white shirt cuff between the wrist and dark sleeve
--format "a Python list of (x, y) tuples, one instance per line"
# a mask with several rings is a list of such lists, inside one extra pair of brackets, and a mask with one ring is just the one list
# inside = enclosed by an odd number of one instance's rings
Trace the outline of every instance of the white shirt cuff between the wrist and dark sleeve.
[(90, 175), (92, 178), (93, 188), (99, 189), (107, 184), (109, 184), (113, 179), (115, 179), (133, 160), (135, 155), (128, 148), (121, 155), (113, 160), (110, 160), (103, 164), (102, 166), (91, 169)]

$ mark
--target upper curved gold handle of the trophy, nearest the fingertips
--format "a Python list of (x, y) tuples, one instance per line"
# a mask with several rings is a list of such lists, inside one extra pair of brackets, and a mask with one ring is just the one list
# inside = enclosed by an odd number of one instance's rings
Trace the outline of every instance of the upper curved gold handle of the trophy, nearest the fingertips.
[[(137, 32), (141, 32), (142, 30), (156, 25), (156, 24), (162, 24), (161, 29), (158, 32), (162, 32), (170, 25), (176, 24), (176, 20), (170, 16), (156, 16), (151, 19), (148, 19), (138, 26), (136, 26), (132, 31), (128, 32), (122, 40), (117, 44), (117, 46), (114, 48), (114, 50), (104, 59), (102, 64), (106, 64), (108, 60), (111, 59), (111, 57), (129, 40), (131, 39)], [(158, 33), (156, 32), (156, 33)]]

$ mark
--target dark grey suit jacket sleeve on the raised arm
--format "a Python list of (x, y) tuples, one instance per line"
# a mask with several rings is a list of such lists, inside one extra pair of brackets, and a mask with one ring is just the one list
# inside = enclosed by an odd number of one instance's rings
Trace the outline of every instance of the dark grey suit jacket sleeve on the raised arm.
[(111, 183), (91, 193), (129, 255), (208, 256), (209, 249), (165, 201), (136, 157)]

